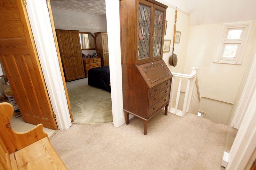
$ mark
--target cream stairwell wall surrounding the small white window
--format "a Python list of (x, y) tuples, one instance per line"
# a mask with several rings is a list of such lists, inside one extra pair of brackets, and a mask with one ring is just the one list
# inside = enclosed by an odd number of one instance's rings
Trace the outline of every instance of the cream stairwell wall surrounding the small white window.
[(256, 38), (256, 22), (241, 65), (213, 63), (222, 24), (191, 26), (184, 73), (199, 67), (198, 82), (203, 97), (200, 111), (214, 122), (228, 123), (228, 117), (242, 82), (252, 46)]

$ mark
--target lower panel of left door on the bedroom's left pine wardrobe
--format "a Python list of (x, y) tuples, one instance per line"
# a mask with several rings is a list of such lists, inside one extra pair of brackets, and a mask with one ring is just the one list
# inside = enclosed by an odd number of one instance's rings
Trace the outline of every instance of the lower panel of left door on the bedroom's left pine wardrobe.
[(76, 71), (75, 71), (73, 57), (65, 57), (64, 65), (65, 65), (66, 80), (69, 81), (69, 80), (76, 79)]

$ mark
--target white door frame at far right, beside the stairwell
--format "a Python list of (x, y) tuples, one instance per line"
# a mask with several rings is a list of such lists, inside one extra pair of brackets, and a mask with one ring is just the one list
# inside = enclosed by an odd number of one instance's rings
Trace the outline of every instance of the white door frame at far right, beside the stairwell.
[[(227, 170), (244, 169), (250, 160), (253, 151), (256, 148), (256, 54), (254, 54), (254, 61), (246, 81), (246, 85), (242, 96), (251, 96), (250, 99), (245, 100), (243, 97), (244, 112), (240, 114), (243, 116), (240, 128), (237, 132), (234, 143), (229, 152), (229, 160)], [(248, 85), (249, 83), (249, 85)], [(252, 88), (254, 87), (254, 88)], [(240, 103), (240, 102), (239, 102)]]

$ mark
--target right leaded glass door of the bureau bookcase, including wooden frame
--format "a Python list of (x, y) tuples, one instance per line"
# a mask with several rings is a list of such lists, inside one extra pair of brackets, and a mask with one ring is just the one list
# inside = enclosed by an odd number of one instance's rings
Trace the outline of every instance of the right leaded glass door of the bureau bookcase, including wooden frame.
[(163, 57), (163, 42), (164, 42), (164, 23), (166, 9), (158, 5), (154, 5), (154, 24), (152, 27), (152, 60)]

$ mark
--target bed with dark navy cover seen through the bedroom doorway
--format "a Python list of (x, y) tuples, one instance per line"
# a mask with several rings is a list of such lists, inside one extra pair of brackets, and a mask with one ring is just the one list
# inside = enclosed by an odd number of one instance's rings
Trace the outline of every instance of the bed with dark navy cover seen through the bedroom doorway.
[(88, 71), (88, 85), (111, 92), (109, 66), (90, 69)]

